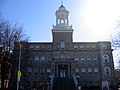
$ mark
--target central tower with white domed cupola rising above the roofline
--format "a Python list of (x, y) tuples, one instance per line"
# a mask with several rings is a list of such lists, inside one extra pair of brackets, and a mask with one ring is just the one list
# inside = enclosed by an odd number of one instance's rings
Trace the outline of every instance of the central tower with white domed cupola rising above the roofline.
[[(53, 48), (70, 49), (73, 43), (73, 29), (69, 26), (69, 11), (63, 4), (56, 11), (56, 25), (53, 25)], [(67, 46), (67, 47), (66, 47)]]

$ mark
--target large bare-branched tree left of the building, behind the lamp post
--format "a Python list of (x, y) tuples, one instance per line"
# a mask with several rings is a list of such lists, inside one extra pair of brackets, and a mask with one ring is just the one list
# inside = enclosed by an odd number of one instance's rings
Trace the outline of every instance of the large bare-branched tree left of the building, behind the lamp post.
[[(17, 39), (16, 39), (17, 36)], [(14, 43), (28, 41), (29, 37), (24, 34), (22, 26), (11, 25), (8, 21), (0, 20), (0, 71), (1, 88), (8, 88), (12, 69), (12, 55)]]

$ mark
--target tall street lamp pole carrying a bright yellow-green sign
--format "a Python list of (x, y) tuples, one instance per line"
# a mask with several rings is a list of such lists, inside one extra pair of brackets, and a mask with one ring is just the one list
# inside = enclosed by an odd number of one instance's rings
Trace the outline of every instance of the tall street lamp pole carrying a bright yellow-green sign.
[(18, 60), (18, 72), (17, 72), (17, 90), (19, 90), (19, 83), (20, 83), (20, 77), (21, 77), (21, 71), (20, 71), (20, 63), (21, 63), (21, 50), (22, 50), (22, 45), (20, 43), (20, 41), (18, 40), (18, 37), (15, 35), (15, 38), (17, 38), (18, 44), (19, 44), (19, 60)]

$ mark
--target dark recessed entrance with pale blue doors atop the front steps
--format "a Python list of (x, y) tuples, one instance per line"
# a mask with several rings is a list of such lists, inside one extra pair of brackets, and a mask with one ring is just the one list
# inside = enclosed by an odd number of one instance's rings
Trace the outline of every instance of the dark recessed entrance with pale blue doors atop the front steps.
[(67, 78), (68, 65), (58, 65), (58, 75), (59, 75), (59, 78)]

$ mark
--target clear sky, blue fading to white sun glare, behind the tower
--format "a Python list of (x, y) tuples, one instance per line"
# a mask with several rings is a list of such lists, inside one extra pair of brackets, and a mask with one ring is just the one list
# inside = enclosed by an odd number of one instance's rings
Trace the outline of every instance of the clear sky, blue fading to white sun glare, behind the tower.
[[(23, 26), (30, 41), (52, 42), (55, 11), (62, 0), (0, 0), (0, 17)], [(109, 41), (119, 32), (120, 0), (63, 0), (74, 42)]]

